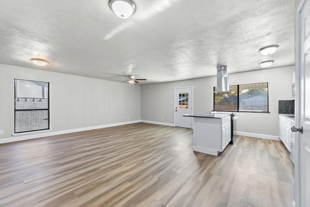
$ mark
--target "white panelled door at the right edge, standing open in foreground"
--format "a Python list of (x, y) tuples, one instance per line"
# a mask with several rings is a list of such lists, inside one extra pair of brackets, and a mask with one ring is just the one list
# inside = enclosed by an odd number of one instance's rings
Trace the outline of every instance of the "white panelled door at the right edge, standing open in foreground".
[[(310, 0), (302, 0), (296, 16), (296, 127), (295, 203), (310, 205)], [(296, 74), (295, 74), (296, 75)], [(296, 176), (297, 174), (297, 176)]]

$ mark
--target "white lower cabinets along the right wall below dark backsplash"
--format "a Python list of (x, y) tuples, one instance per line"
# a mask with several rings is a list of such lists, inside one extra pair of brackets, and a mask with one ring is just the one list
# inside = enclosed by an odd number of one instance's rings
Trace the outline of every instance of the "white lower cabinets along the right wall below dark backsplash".
[(291, 131), (295, 121), (283, 115), (279, 115), (279, 138), (285, 147), (291, 152), (291, 139), (294, 138), (294, 133)]

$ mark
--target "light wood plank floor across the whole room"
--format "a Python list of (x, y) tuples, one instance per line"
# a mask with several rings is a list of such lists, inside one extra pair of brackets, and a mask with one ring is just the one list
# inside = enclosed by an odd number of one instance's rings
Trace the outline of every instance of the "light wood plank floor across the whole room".
[(0, 206), (289, 207), (279, 141), (238, 136), (217, 157), (193, 131), (146, 123), (0, 144)]

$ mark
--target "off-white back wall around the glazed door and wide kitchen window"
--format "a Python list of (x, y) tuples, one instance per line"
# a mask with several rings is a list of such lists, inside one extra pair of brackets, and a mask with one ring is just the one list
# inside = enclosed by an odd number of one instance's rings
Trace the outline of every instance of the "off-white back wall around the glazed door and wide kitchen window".
[[(242, 112), (237, 123), (238, 132), (278, 136), (278, 100), (292, 99), (294, 65), (229, 75), (229, 82), (246, 84), (268, 82), (270, 113)], [(174, 123), (174, 88), (193, 86), (194, 113), (213, 110), (213, 86), (216, 77), (182, 80), (141, 86), (141, 119), (151, 122)], [(163, 117), (163, 120), (160, 118)]]

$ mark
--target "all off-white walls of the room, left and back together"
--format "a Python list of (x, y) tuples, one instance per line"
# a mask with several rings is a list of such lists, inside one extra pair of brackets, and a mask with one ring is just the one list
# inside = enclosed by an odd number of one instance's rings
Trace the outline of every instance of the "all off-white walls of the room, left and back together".
[[(239, 115), (239, 132), (278, 136), (278, 100), (292, 99), (293, 72), (294, 66), (287, 66), (229, 75), (231, 85), (269, 83), (270, 113)], [(175, 87), (193, 86), (194, 112), (205, 112), (213, 110), (212, 91), (217, 81), (207, 77), (135, 85), (132, 90), (125, 83), (0, 64), (0, 129), (4, 130), (0, 139), (14, 133), (14, 79), (50, 82), (51, 131), (139, 120), (173, 124)]]

